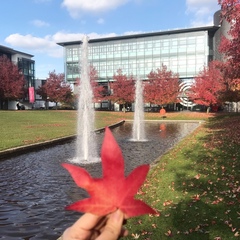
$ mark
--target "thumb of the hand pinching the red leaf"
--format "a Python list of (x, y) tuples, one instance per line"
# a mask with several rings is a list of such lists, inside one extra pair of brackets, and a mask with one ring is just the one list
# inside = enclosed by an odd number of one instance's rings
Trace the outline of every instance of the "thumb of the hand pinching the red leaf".
[(101, 235), (96, 240), (116, 240), (119, 238), (122, 230), (124, 214), (117, 210), (108, 219)]

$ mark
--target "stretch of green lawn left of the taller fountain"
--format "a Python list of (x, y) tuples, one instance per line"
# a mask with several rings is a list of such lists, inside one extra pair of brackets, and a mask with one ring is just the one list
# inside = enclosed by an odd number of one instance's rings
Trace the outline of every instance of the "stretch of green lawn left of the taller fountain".
[(76, 112), (0, 111), (0, 150), (75, 133)]

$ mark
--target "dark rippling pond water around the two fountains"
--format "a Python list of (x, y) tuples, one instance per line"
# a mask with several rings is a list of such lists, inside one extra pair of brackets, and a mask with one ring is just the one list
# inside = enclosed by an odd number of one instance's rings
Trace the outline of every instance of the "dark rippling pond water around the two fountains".
[[(130, 142), (132, 125), (113, 130), (125, 158), (128, 174), (136, 166), (152, 163), (192, 132), (198, 123), (146, 123), (147, 142)], [(100, 152), (104, 134), (97, 134)], [(0, 239), (54, 240), (81, 215), (64, 207), (87, 197), (61, 167), (75, 157), (75, 141), (0, 162)], [(94, 177), (101, 163), (84, 165)]]

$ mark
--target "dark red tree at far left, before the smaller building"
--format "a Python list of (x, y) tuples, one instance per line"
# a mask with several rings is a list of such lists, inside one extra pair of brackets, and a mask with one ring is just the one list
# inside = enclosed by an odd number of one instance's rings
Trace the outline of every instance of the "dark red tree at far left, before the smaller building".
[(18, 67), (6, 56), (0, 57), (0, 100), (17, 100), (24, 96), (25, 80)]

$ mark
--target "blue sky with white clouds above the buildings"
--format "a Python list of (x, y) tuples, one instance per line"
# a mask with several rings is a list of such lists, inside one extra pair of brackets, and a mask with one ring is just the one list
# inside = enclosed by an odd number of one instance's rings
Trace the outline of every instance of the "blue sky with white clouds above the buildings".
[(34, 55), (35, 77), (64, 72), (58, 42), (212, 25), (217, 0), (1, 1), (0, 45)]

